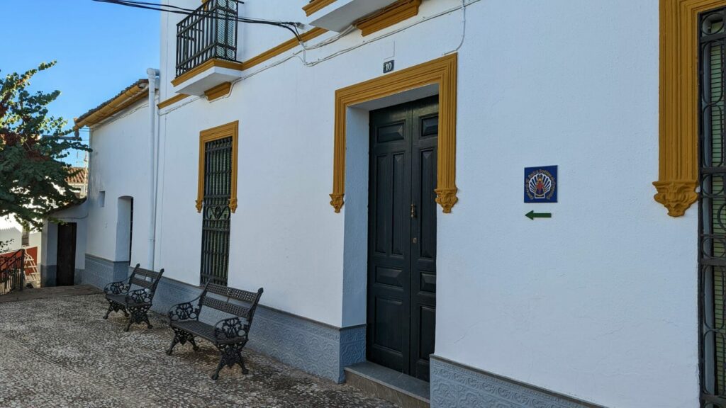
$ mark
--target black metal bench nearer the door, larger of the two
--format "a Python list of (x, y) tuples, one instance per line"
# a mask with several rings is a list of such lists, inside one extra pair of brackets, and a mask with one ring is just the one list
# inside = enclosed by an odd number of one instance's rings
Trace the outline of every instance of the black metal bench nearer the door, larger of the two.
[[(257, 292), (248, 292), (208, 283), (202, 294), (194, 300), (172, 306), (169, 309), (169, 324), (174, 330), (174, 340), (171, 340), (171, 346), (166, 354), (171, 356), (177, 343), (185, 344), (187, 341), (192, 343), (194, 351), (198, 351), (195, 337), (203, 338), (219, 349), (219, 365), (211, 375), (212, 380), (219, 378), (219, 372), (225, 365), (233, 367), (234, 364), (240, 364), (242, 374), (247, 374), (249, 371), (242, 359), (242, 348), (247, 344), (252, 317), (262, 292), (261, 287)], [(238, 304), (240, 302), (245, 305)], [(221, 319), (215, 325), (200, 322), (199, 315), (205, 307), (230, 314), (232, 317)]]

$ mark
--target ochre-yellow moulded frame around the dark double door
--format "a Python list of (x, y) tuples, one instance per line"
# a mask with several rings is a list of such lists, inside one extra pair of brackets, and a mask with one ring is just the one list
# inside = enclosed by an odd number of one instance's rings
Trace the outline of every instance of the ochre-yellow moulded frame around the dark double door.
[(439, 161), (436, 176), (436, 203), (450, 213), (457, 198), (456, 187), (456, 103), (457, 54), (424, 62), (369, 81), (335, 91), (335, 144), (333, 152), (333, 193), (330, 205), (339, 213), (346, 189), (346, 111), (374, 99), (408, 89), (439, 85)]

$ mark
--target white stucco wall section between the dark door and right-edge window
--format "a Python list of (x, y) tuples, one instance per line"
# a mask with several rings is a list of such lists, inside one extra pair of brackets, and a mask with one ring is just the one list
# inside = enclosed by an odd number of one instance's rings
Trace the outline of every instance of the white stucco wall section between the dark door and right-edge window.
[[(667, 216), (650, 184), (658, 1), (469, 12), (436, 353), (608, 407), (696, 407), (697, 210)], [(560, 203), (524, 205), (523, 167), (542, 165)]]

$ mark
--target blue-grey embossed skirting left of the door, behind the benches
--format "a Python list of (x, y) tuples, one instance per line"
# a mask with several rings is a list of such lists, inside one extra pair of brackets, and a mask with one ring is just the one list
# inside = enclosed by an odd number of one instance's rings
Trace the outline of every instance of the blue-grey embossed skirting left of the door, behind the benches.
[[(94, 262), (89, 267), (89, 259)], [(105, 262), (105, 264), (104, 264)], [(86, 256), (83, 283), (104, 287), (111, 282), (113, 263)], [(92, 272), (89, 274), (89, 269)], [(126, 274), (114, 280), (126, 279)], [(171, 306), (191, 301), (202, 291), (201, 287), (162, 277), (154, 297), (153, 310), (166, 314)], [(264, 295), (262, 297), (264, 303)], [(217, 322), (220, 314), (203, 311), (205, 322)], [(170, 338), (171, 340), (171, 338)], [(365, 360), (365, 326), (338, 328), (315, 322), (277, 309), (260, 306), (250, 331), (248, 347), (267, 354), (300, 370), (336, 383), (343, 382), (343, 367)]]

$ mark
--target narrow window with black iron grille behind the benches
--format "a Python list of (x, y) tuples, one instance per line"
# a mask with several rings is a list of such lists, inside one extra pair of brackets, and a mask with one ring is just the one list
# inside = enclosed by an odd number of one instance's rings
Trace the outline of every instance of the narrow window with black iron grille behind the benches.
[(211, 140), (204, 147), (201, 284), (227, 285), (232, 136)]

